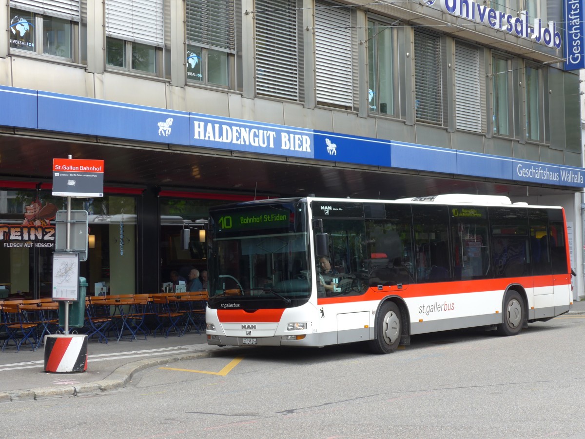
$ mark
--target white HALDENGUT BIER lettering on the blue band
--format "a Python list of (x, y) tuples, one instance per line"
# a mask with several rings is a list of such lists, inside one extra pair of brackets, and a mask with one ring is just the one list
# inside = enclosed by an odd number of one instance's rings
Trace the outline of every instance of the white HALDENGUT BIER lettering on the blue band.
[(280, 142), (281, 149), (311, 152), (311, 137), (304, 134), (280, 132), (259, 128), (247, 128), (237, 125), (212, 124), (194, 121), (193, 138), (211, 140), (212, 142), (231, 143), (232, 145), (256, 146), (258, 148), (276, 148)]

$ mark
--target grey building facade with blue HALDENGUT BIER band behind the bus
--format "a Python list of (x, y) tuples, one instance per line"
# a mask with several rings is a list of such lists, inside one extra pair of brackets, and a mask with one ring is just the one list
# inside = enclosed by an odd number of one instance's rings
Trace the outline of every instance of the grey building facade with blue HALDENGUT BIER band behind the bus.
[(0, 287), (50, 294), (51, 163), (71, 155), (105, 162), (104, 197), (74, 204), (89, 294), (205, 269), (180, 232), (218, 203), (472, 193), (565, 207), (578, 299), (582, 5), (10, 0)]

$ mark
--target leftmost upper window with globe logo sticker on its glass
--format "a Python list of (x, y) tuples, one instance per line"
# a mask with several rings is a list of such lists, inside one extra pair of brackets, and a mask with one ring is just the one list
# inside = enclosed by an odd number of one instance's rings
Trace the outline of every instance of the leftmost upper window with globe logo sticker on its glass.
[(38, 55), (74, 60), (76, 45), (74, 41), (77, 41), (79, 29), (79, 4), (73, 3), (69, 11), (59, 11), (60, 17), (47, 15), (57, 13), (50, 8), (50, 3), (46, 5), (46, 12), (43, 11), (43, 13), (11, 8), (11, 50), (25, 50)]

